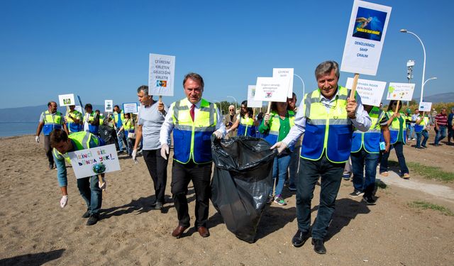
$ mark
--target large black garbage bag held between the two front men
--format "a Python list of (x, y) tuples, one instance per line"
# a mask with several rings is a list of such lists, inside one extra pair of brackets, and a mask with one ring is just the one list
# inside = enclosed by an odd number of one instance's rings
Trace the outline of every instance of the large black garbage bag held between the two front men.
[(211, 138), (214, 160), (211, 201), (228, 230), (249, 243), (255, 241), (272, 187), (276, 153), (270, 147), (266, 140), (248, 136)]

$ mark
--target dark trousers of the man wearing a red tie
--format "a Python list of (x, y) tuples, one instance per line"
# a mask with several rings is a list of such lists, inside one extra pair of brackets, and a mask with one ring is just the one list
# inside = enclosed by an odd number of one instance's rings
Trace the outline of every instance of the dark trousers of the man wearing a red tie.
[(172, 165), (172, 198), (177, 209), (178, 223), (180, 226), (189, 227), (189, 213), (187, 204), (187, 186), (190, 181), (194, 184), (196, 194), (196, 223), (195, 226), (206, 226), (208, 220), (209, 199), (211, 196), (211, 165), (206, 163), (197, 165), (189, 161), (182, 164), (173, 161)]

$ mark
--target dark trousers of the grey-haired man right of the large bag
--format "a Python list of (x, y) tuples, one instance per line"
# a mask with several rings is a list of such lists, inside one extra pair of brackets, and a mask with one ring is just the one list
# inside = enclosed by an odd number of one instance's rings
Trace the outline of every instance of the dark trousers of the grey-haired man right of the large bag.
[(343, 163), (330, 162), (326, 155), (313, 161), (301, 158), (297, 182), (297, 221), (298, 228), (307, 232), (311, 226), (311, 201), (317, 180), (321, 177), (319, 211), (312, 227), (312, 238), (323, 239), (334, 213), (336, 196), (341, 187)]

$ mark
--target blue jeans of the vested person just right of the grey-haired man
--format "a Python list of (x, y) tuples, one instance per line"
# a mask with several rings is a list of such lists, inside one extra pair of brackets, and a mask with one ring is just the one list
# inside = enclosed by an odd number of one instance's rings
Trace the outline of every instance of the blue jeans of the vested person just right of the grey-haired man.
[[(380, 153), (367, 153), (362, 148), (358, 153), (351, 153), (350, 157), (353, 168), (353, 187), (355, 190), (364, 192), (364, 196), (372, 196)], [(365, 174), (364, 177), (363, 174)]]

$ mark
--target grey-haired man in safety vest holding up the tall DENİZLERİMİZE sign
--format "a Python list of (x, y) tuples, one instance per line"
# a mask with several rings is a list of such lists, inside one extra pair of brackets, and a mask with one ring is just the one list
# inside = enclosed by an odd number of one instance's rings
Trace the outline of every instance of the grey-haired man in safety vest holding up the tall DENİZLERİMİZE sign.
[(350, 92), (338, 85), (337, 62), (322, 62), (316, 67), (315, 76), (319, 88), (304, 95), (294, 126), (287, 137), (271, 148), (282, 153), (304, 134), (300, 155), (300, 167), (304, 171), (299, 171), (297, 182), (298, 231), (292, 244), (301, 247), (309, 238), (311, 200), (315, 184), (321, 177), (320, 204), (312, 227), (312, 245), (316, 253), (324, 254), (323, 238), (333, 217), (343, 169), (350, 156), (353, 126), (365, 132), (372, 121), (361, 104), (360, 96), (350, 97)]

